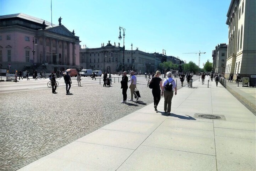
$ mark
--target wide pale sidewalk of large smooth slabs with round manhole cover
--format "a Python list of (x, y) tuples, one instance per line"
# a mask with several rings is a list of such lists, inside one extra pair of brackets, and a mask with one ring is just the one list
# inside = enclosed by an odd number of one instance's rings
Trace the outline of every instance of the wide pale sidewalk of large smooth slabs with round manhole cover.
[(193, 86), (178, 90), (171, 115), (162, 98), (158, 112), (150, 104), (19, 171), (256, 170), (254, 114), (220, 84)]

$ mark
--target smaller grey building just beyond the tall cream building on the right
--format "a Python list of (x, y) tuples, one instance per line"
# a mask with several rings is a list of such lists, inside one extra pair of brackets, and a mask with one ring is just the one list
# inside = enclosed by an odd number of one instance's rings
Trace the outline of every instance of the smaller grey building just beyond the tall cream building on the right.
[(226, 59), (227, 59), (228, 45), (226, 43), (221, 43), (215, 47), (213, 50), (213, 72), (225, 73), (226, 70)]

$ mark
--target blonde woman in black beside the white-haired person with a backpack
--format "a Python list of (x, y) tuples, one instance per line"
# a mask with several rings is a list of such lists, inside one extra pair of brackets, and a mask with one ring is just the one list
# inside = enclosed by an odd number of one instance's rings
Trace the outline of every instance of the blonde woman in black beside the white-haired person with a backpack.
[[(156, 71), (155, 77), (152, 77), (152, 79), (149, 81), (149, 84), (152, 82), (153, 87), (152, 87), (152, 94), (154, 97), (154, 108), (155, 111), (157, 111), (157, 105), (161, 99), (161, 90), (163, 91), (163, 86), (162, 86), (162, 79), (160, 78), (161, 72)], [(161, 88), (161, 90), (160, 90)]]

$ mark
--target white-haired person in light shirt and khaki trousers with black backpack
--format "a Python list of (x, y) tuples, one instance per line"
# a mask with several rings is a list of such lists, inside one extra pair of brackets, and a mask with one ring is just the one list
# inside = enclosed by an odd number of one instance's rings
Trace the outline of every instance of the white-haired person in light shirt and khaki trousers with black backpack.
[[(163, 82), (164, 91), (162, 91), (161, 96), (164, 95), (165, 103), (164, 103), (164, 110), (165, 113), (171, 114), (171, 100), (173, 97), (173, 89), (175, 90), (175, 95), (177, 95), (177, 87), (174, 79), (172, 79), (171, 72), (166, 73), (167, 77), (165, 81)], [(172, 85), (172, 86), (170, 86)]]

